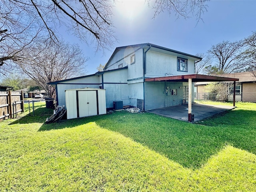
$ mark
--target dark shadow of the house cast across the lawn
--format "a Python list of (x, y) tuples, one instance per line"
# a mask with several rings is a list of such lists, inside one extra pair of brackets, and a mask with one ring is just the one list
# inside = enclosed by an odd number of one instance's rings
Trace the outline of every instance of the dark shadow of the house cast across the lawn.
[[(72, 128), (95, 122), (102, 128), (119, 132), (132, 140), (188, 168), (200, 168), (213, 154), (231, 144), (256, 154), (256, 125), (250, 128), (256, 111), (234, 110), (190, 124), (151, 113), (115, 114), (64, 120), (43, 124), (38, 131)], [(243, 121), (238, 120), (243, 117)], [(232, 118), (233, 117), (233, 118)]]

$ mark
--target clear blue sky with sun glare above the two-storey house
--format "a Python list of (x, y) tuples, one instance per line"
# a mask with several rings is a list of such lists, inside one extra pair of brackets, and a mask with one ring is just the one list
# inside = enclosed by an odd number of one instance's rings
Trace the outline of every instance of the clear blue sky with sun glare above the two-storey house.
[(144, 0), (117, 1), (114, 6), (113, 22), (118, 42), (104, 54), (95, 53), (93, 44), (87, 45), (64, 35), (64, 39), (66, 36), (66, 40), (78, 43), (89, 58), (87, 74), (97, 72), (96, 67), (106, 64), (119, 46), (152, 43), (194, 55), (206, 53), (212, 45), (223, 40), (242, 40), (256, 30), (256, 0), (211, 0), (208, 12), (202, 16), (204, 22), (199, 23), (196, 18), (176, 19), (168, 12), (152, 19), (154, 12), (144, 4)]

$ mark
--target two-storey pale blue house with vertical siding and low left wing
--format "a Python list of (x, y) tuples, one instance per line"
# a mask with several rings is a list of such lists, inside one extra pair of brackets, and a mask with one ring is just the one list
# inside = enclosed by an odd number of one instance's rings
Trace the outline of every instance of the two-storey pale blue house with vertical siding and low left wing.
[(189, 90), (194, 92), (196, 80), (236, 80), (194, 74), (197, 60), (202, 58), (150, 43), (123, 46), (114, 50), (102, 72), (48, 84), (56, 86), (58, 105), (65, 105), (65, 90), (89, 87), (106, 90), (106, 108), (123, 101), (124, 106), (151, 110), (193, 102)]

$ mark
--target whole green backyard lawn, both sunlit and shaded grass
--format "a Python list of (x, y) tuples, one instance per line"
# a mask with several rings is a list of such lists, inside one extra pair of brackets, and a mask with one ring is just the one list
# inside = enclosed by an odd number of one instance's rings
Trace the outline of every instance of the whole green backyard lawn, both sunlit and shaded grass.
[(1, 192), (256, 191), (256, 104), (197, 124), (125, 111), (44, 124), (44, 104), (0, 122)]

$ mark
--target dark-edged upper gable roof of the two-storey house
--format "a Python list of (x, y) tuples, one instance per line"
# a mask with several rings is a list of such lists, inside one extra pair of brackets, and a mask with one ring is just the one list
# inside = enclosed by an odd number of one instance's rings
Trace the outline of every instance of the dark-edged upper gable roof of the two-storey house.
[(159, 45), (155, 45), (155, 44), (152, 44), (152, 43), (142, 43), (142, 44), (134, 44), (134, 45), (117, 47), (114, 50), (113, 54), (110, 56), (110, 58), (109, 58), (109, 60), (106, 64), (106, 66), (104, 67), (104, 69), (108, 66), (108, 63), (114, 57), (116, 52), (118, 52), (118, 50), (130, 48), (130, 47), (140, 47), (138, 49), (150, 48), (150, 50), (152, 50), (152, 51), (161, 52), (161, 53), (164, 53), (164, 54), (170, 54), (170, 52), (172, 52), (172, 54), (174, 54), (175, 56), (178, 56), (178, 57), (184, 58), (184, 56), (185, 56), (185, 59), (191, 59), (191, 60), (195, 60), (195, 61), (196, 60), (202, 60), (201, 57), (190, 55), (190, 54), (187, 54), (187, 53), (184, 53), (184, 52), (176, 51), (176, 50), (169, 49), (169, 48), (166, 48), (166, 47), (162, 47), (162, 46), (159, 46)]

